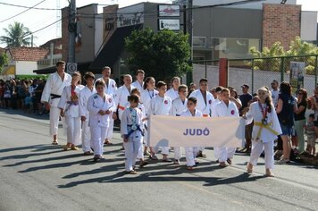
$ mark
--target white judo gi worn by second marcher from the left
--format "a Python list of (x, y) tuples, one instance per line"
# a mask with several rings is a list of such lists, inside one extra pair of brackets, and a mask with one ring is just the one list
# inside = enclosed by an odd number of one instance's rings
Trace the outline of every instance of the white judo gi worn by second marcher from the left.
[(58, 104), (59, 108), (64, 110), (65, 130), (67, 134), (67, 143), (79, 145), (81, 140), (81, 127), (79, 115), (79, 92), (84, 86), (79, 85), (74, 89), (77, 97), (76, 101), (71, 100), (71, 86), (65, 87)]

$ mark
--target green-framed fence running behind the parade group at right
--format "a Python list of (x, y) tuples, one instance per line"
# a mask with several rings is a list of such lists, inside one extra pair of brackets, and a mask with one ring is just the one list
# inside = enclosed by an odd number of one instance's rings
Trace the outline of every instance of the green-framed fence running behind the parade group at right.
[[(305, 63), (304, 88), (312, 93), (317, 84), (318, 55), (275, 56), (264, 58), (229, 59), (228, 86), (238, 90), (247, 83), (254, 93), (262, 86), (271, 86), (272, 80), (289, 81), (291, 77), (290, 62)], [(209, 80), (210, 88), (219, 84), (219, 61), (194, 61), (193, 80)], [(296, 91), (296, 90), (294, 90)]]

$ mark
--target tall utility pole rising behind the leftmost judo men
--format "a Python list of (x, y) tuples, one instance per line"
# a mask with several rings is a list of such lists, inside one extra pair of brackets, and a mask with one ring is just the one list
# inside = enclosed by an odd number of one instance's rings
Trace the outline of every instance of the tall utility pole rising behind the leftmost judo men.
[(76, 0), (71, 0), (69, 6), (69, 54), (68, 63), (75, 63), (75, 33), (76, 33)]

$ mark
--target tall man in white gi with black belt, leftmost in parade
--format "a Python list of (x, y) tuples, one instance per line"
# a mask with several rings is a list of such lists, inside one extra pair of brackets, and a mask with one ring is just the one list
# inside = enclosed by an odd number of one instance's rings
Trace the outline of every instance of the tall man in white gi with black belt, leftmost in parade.
[(60, 118), (59, 104), (63, 89), (71, 85), (71, 75), (65, 72), (65, 62), (56, 63), (57, 71), (52, 73), (46, 80), (41, 102), (50, 108), (50, 135), (53, 136), (53, 145), (57, 145), (57, 131)]

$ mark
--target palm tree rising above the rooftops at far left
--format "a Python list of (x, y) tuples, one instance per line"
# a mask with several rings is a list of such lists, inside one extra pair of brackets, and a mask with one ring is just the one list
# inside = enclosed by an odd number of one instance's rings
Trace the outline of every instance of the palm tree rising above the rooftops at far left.
[(7, 46), (29, 46), (30, 38), (27, 36), (31, 34), (29, 29), (21, 22), (14, 22), (9, 24), (8, 29), (4, 29), (7, 36), (1, 36), (0, 42)]

